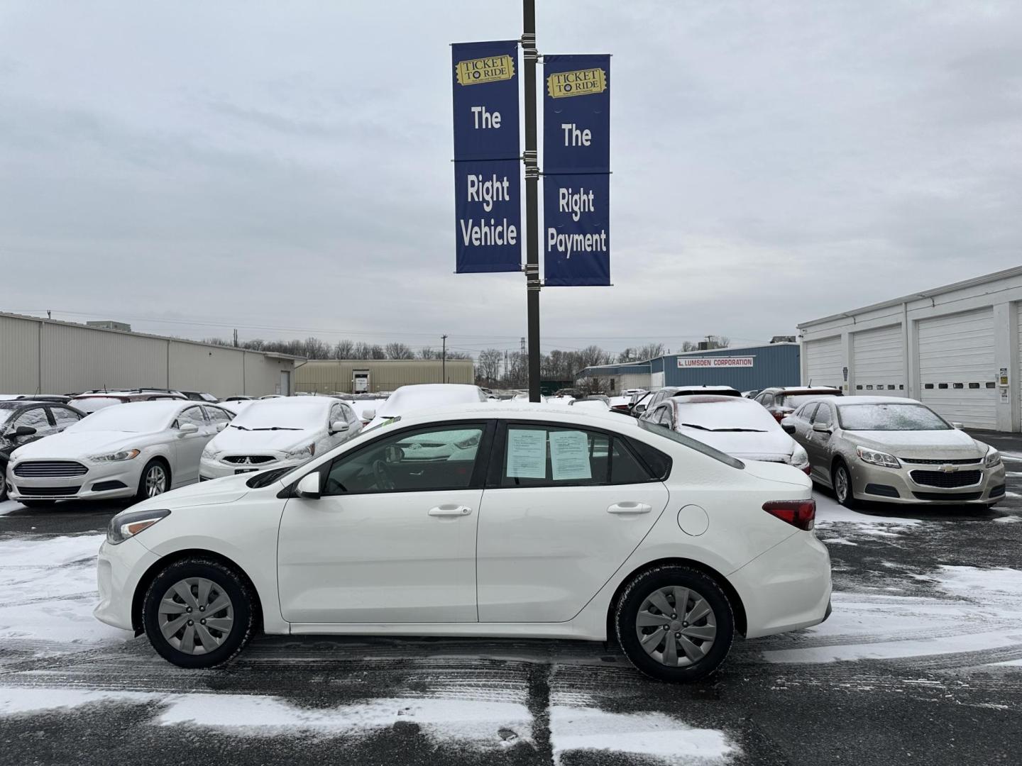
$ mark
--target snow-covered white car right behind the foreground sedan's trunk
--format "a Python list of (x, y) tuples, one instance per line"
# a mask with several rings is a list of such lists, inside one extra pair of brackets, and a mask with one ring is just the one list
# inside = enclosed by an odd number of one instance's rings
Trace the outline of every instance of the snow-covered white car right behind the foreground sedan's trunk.
[(659, 423), (740, 460), (787, 463), (809, 473), (805, 450), (761, 404), (742, 396), (671, 396), (643, 413)]

